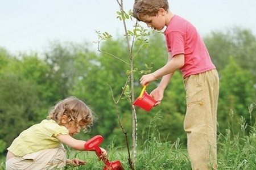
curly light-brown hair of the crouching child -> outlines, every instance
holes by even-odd
[[[49,111],[47,119],[54,120],[57,124],[63,125],[61,123],[63,115],[68,117],[67,123],[74,121],[76,126],[80,126],[84,132],[90,130],[95,119],[92,110],[83,101],[73,96],[59,101]]]

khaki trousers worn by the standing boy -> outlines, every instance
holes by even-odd
[[[217,104],[219,79],[216,69],[184,79],[187,112],[184,130],[192,169],[217,169]]]

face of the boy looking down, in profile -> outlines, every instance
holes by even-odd
[[[156,16],[149,16],[149,15],[142,15],[139,17],[139,19],[147,24],[147,27],[150,27],[152,29],[156,29],[158,31],[161,31],[164,26],[166,25],[166,15],[165,12],[160,11],[158,12],[158,15]]]

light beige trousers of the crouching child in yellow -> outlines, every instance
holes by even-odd
[[[5,164],[6,170],[62,169],[65,167],[65,152],[62,148],[52,148],[11,158]]]

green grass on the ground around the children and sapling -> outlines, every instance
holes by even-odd
[[[255,114],[256,103],[249,108],[250,119]],[[254,111],[254,112],[253,112]],[[191,165],[187,156],[187,150],[184,145],[177,139],[174,143],[161,142],[158,130],[155,128],[157,115],[152,118],[148,137],[144,142],[141,150],[138,149],[135,167],[138,170],[187,170]],[[225,134],[218,134],[218,169],[219,170],[251,170],[256,169],[256,121],[250,120],[249,124],[245,118],[241,117],[240,122],[232,122],[226,129]],[[236,124],[236,125],[234,125]],[[233,126],[239,125],[240,131],[233,131]],[[94,152],[74,152],[67,151],[69,158],[80,158],[88,162],[80,167],[67,166],[65,169],[90,169],[98,170],[104,168],[104,163],[98,161]],[[108,148],[109,160],[120,160],[124,169],[130,169],[127,160],[127,152],[118,148]],[[4,169],[5,164],[1,164]],[[1,168],[0,168],[1,169]]]

